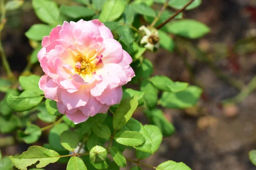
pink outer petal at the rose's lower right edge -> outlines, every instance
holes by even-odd
[[[96,97],[99,102],[106,105],[115,105],[121,101],[122,87],[105,89],[101,96]]]

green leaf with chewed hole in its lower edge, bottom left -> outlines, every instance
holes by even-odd
[[[37,168],[45,167],[50,163],[54,163],[60,159],[60,155],[54,150],[49,150],[41,146],[31,146],[26,152],[19,156],[9,156],[15,167],[20,170],[27,170],[28,166],[39,163]]]

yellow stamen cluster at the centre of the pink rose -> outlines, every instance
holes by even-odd
[[[78,74],[96,74],[96,67],[102,63],[102,55],[87,59],[86,57],[76,56],[75,71]]]

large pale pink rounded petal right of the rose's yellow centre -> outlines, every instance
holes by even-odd
[[[102,53],[103,63],[119,63],[122,59],[122,45],[115,39],[109,38],[103,41],[105,51]]]

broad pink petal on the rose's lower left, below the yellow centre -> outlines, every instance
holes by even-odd
[[[87,104],[90,94],[85,93],[85,89],[81,88],[79,91],[74,93],[69,93],[67,91],[62,91],[61,101],[67,106],[68,110],[73,108],[79,108]]]

